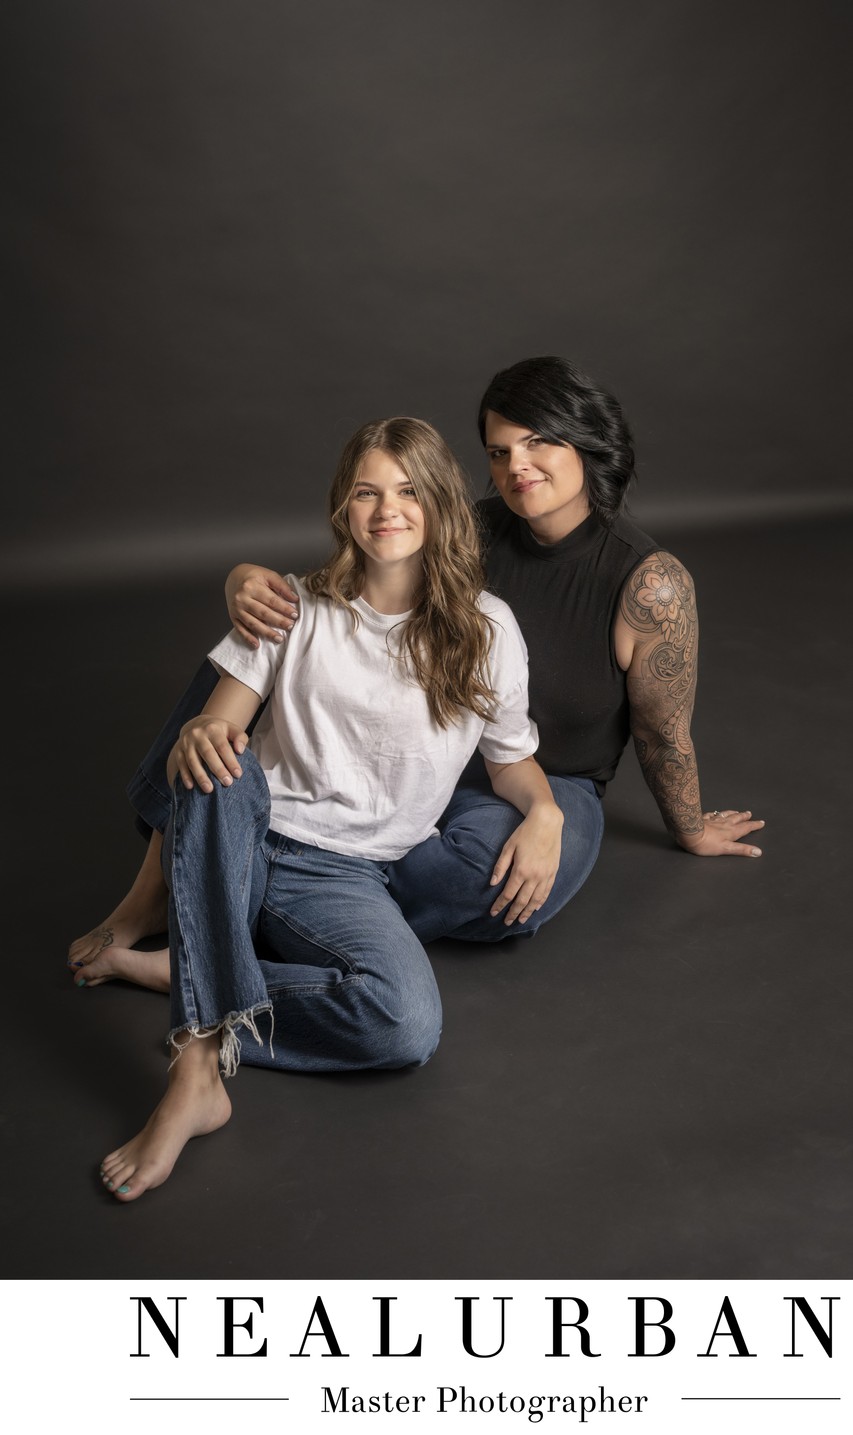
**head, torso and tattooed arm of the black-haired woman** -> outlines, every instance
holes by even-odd
[[[622,514],[633,448],[619,403],[564,359],[527,359],[495,375],[478,423],[500,495],[480,505],[487,575],[528,644],[543,768],[602,792],[632,736],[682,848],[758,857],[742,839],[763,822],[701,808],[694,584]]]

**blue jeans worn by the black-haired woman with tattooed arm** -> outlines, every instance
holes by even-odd
[[[157,742],[136,769],[128,796],[145,831],[164,831],[171,794],[167,758],[180,728],[201,712],[217,683],[205,660],[171,713]],[[602,802],[589,778],[549,778],[563,812],[560,870],[549,900],[523,927],[490,917],[497,888],[490,887],[501,848],[521,821],[511,804],[497,798],[475,756],[439,819],[439,834],[426,838],[386,870],[388,888],[421,941],[457,937],[462,941],[501,941],[531,937],[574,895],[589,877],[605,828]]]

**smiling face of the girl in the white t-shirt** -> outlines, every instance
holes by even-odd
[[[369,564],[419,567],[426,525],[412,481],[382,449],[365,456],[346,508],[349,531]]]

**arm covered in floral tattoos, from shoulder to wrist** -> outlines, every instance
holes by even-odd
[[[668,552],[645,558],[622,590],[620,614],[635,636],[628,700],[636,755],[678,841],[704,825],[691,739],[698,623],[689,573]]]

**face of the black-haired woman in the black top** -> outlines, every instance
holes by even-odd
[[[589,517],[583,464],[570,443],[547,443],[490,409],[485,452],[498,494],[540,542],[559,542]]]

